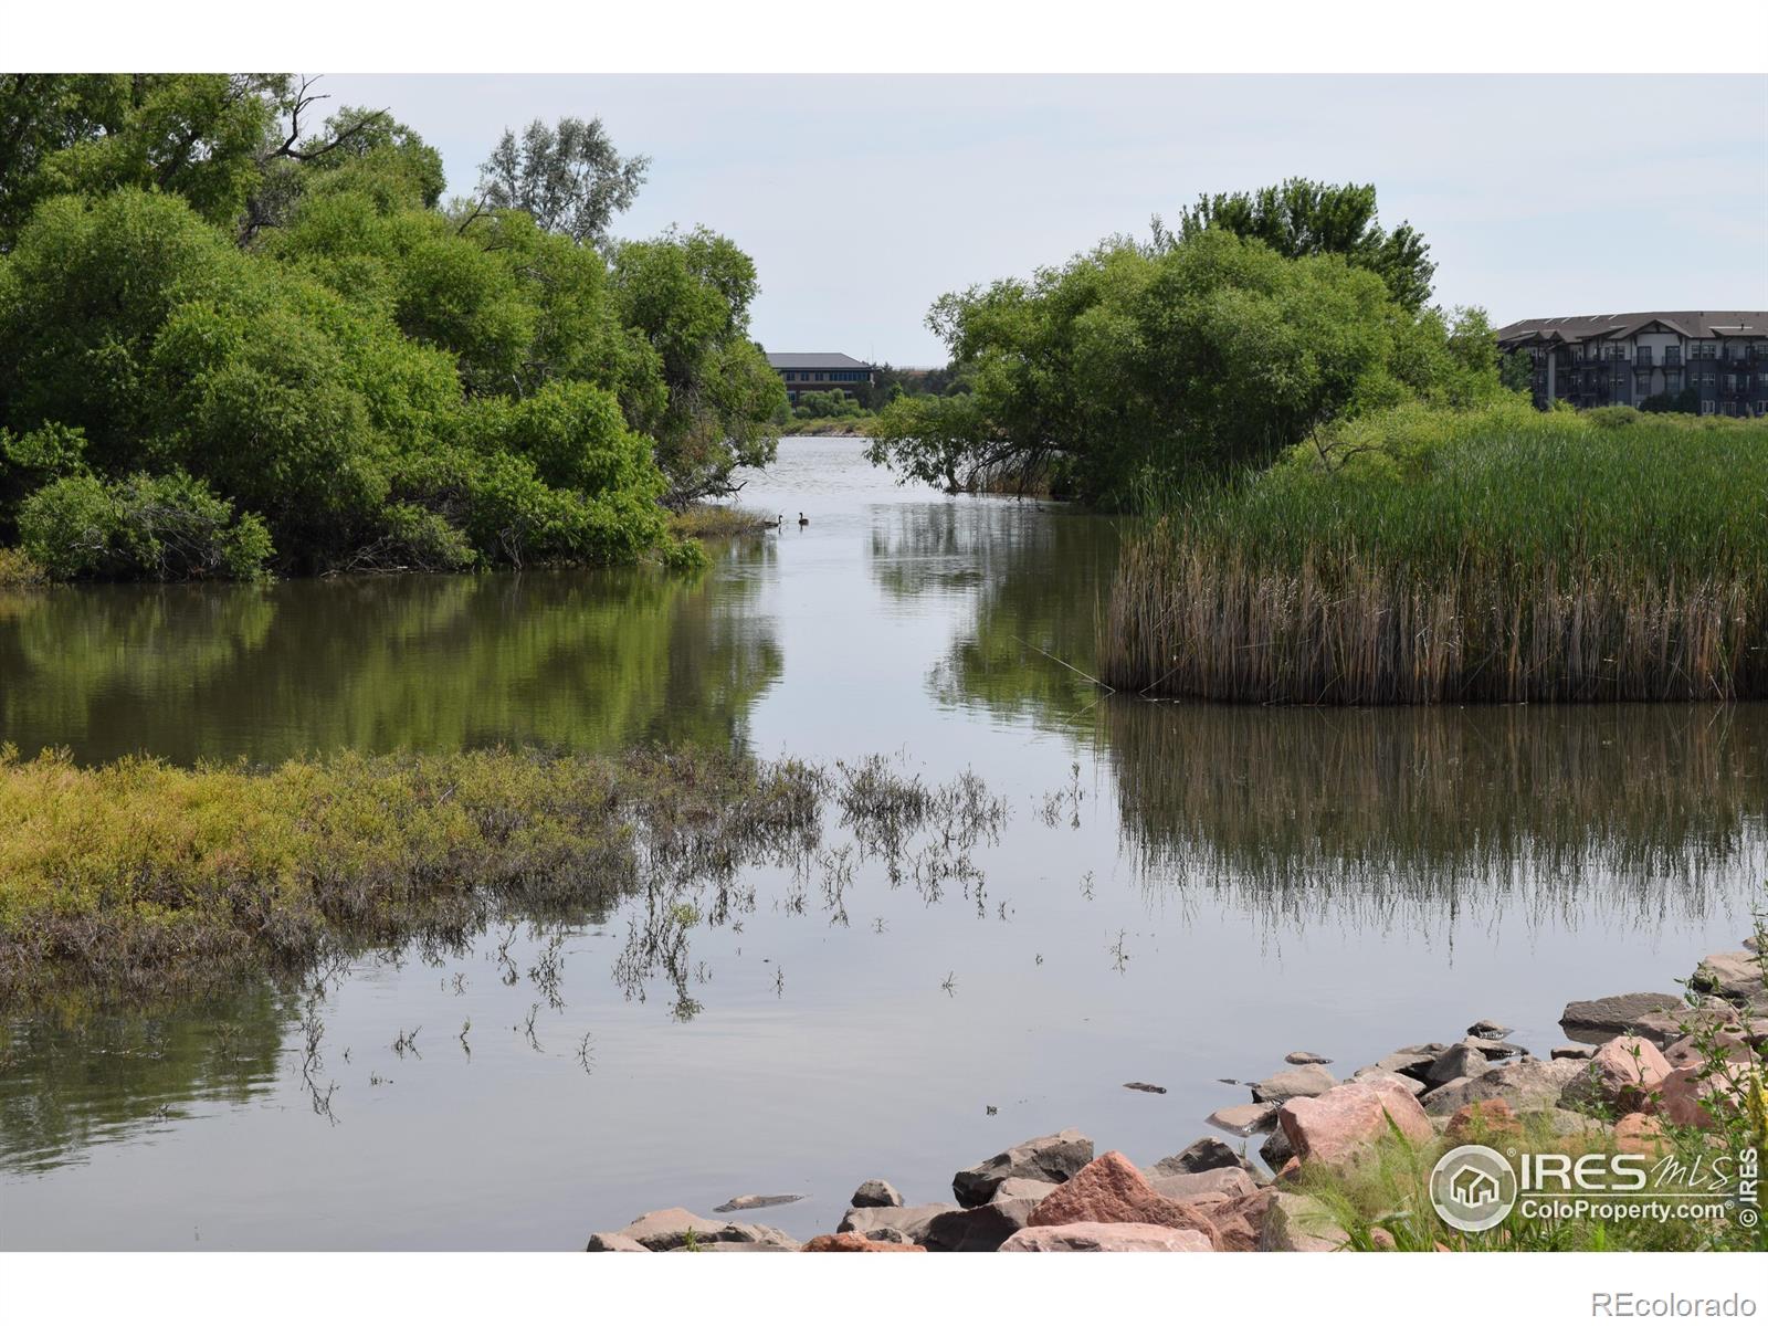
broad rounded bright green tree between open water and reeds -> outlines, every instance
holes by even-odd
[[[1107,242],[946,295],[928,324],[971,391],[889,405],[873,460],[946,488],[1041,481],[1112,507],[1268,463],[1331,419],[1497,389],[1478,309],[1414,315],[1340,255],[1287,258],[1223,226]]]

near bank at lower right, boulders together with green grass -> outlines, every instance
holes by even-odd
[[[732,1197],[716,1208],[723,1220],[684,1208],[647,1211],[622,1229],[592,1234],[585,1252],[1768,1250],[1757,1223],[1759,1186],[1749,1172],[1749,1158],[1759,1160],[1768,1144],[1768,926],[1761,912],[1743,944],[1703,958],[1687,995],[1635,992],[1566,1004],[1559,1018],[1566,1041],[1547,1057],[1508,1041],[1510,1029],[1489,1018],[1469,1024],[1460,1041],[1400,1047],[1342,1080],[1328,1071],[1330,1057],[1292,1050],[1271,1077],[1238,1084],[1250,1089],[1250,1103],[1206,1119],[1241,1139],[1238,1151],[1206,1133],[1144,1170],[1123,1153],[1098,1153],[1089,1135],[1066,1128],[956,1170],[955,1200],[909,1204],[888,1179],[866,1179],[840,1225],[803,1243],[746,1215],[803,1200],[780,1193]],[[1165,1093],[1146,1082],[1123,1086]],[[1254,1137],[1264,1139],[1257,1160],[1248,1155]],[[1704,1188],[1690,1181],[1687,1193],[1711,1211],[1687,1227],[1662,1216],[1667,1241],[1655,1241],[1648,1220],[1581,1223],[1566,1215],[1570,1199],[1515,1186],[1497,1220],[1469,1225],[1455,1190],[1444,1186],[1466,1170],[1452,1174],[1444,1160],[1464,1149],[1496,1156],[1496,1147],[1540,1162],[1565,1156],[1581,1181],[1586,1172],[1642,1174],[1650,1165],[1653,1176],[1669,1176],[1660,1186],[1688,1174],[1690,1155],[1704,1155],[1717,1177]],[[1741,1169],[1715,1156],[1734,1156]],[[1372,1176],[1386,1179],[1395,1167],[1418,1183],[1411,1197],[1429,1199],[1411,1206],[1434,1206],[1436,1218],[1420,1209],[1363,1209],[1379,1192]],[[1439,1170],[1448,1177],[1439,1179]],[[1614,1193],[1637,1188],[1628,1185]],[[1593,1190],[1605,1192],[1600,1183]],[[1653,1200],[1667,1213],[1662,1197]],[[1490,1200],[1497,1200],[1496,1188]],[[1545,1223],[1536,1227],[1536,1208],[1558,1215],[1542,1215]]]

